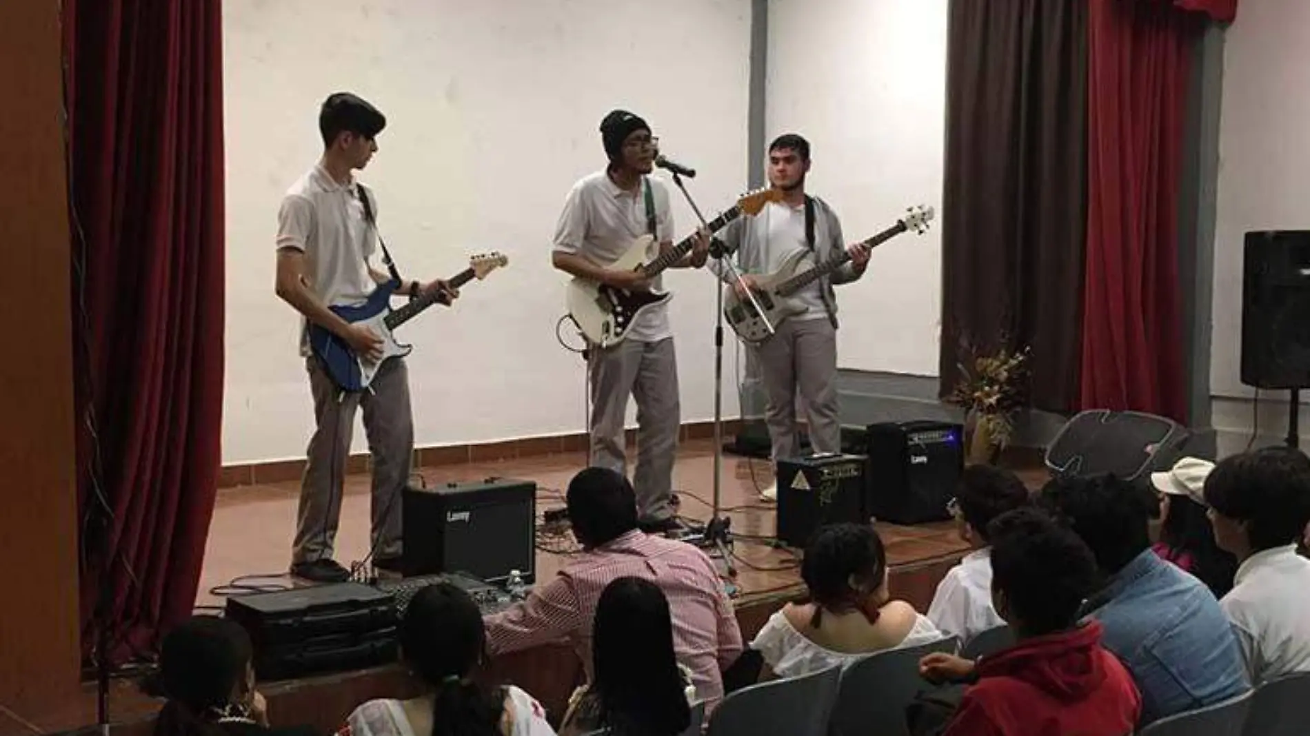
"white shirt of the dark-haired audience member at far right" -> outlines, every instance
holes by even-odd
[[[1233,622],[1254,685],[1310,672],[1310,559],[1296,545],[1247,558],[1220,606]]]

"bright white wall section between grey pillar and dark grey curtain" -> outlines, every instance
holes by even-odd
[[[807,183],[837,210],[848,242],[905,208],[941,216],[947,0],[772,0],[766,131],[812,147]],[[879,246],[841,287],[842,368],[935,376],[941,221]]]

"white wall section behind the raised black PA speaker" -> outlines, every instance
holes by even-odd
[[[1213,424],[1220,448],[1246,445],[1252,389],[1239,380],[1242,244],[1247,230],[1310,229],[1310,3],[1243,3],[1225,37],[1214,237]],[[1258,443],[1286,433],[1286,393],[1260,406]],[[1310,397],[1307,397],[1310,398]],[[1310,436],[1310,410],[1302,411]]]

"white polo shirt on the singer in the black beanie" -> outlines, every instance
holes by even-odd
[[[673,211],[668,189],[655,177],[650,182],[655,202],[655,242],[647,258],[659,255],[660,241],[673,240]],[[565,199],[565,210],[555,225],[554,250],[582,255],[597,266],[618,261],[633,242],[646,234],[646,193],[643,187],[625,191],[605,172],[588,174],[574,185]],[[652,289],[663,287],[663,275],[651,282]],[[627,330],[627,339],[659,342],[673,337],[668,322],[668,303],[647,308]]]

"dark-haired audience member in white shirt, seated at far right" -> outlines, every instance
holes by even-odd
[[[1220,605],[1255,685],[1310,672],[1310,561],[1297,537],[1310,517],[1310,458],[1269,448],[1225,458],[1205,482],[1220,546],[1242,561]]]

